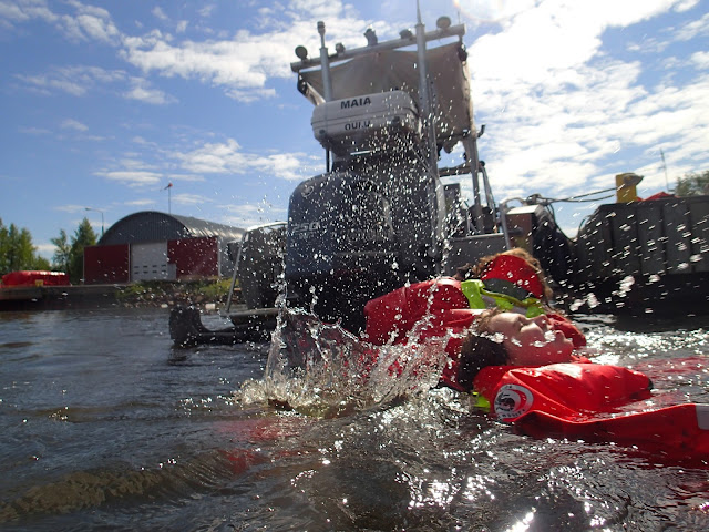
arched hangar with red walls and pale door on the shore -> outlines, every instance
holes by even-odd
[[[228,277],[244,233],[191,216],[131,214],[84,248],[84,283]]]

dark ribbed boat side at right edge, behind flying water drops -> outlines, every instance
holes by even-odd
[[[572,310],[686,316],[709,310],[709,196],[600,205],[572,241]]]

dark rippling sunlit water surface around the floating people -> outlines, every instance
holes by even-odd
[[[709,530],[701,464],[515,434],[422,371],[358,381],[337,328],[296,352],[331,371],[264,381],[268,345],[175,349],[167,317],[0,314],[0,529]],[[709,319],[580,321],[602,361],[709,402]]]

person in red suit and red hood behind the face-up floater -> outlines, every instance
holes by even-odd
[[[540,279],[537,269],[524,258],[514,255],[499,255],[490,262],[481,277],[483,280],[501,278],[514,287],[524,288],[530,294],[528,299],[535,299],[537,303],[546,297],[546,284]],[[467,329],[481,316],[485,305],[480,304],[480,298],[471,301],[461,286],[463,283],[465,282],[456,278],[441,277],[404,286],[370,300],[364,306],[364,339],[374,345],[405,344],[410,341],[410,337],[413,341],[424,341],[427,338],[448,335],[450,339],[445,350],[451,364],[444,369],[441,383],[458,391],[470,391],[472,382],[459,378],[459,375],[464,375],[460,371],[461,347]],[[495,304],[493,297],[486,301]],[[505,299],[504,303],[510,303],[510,299]],[[513,310],[514,314],[528,314],[528,308],[525,311],[513,307]],[[544,316],[544,323],[552,329],[564,332],[575,348],[586,345],[586,338],[572,321],[554,313],[546,305],[544,310],[547,313],[538,314],[531,319],[541,320],[540,316]]]

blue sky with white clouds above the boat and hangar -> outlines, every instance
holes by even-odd
[[[420,7],[429,31],[440,16],[466,27],[499,202],[603,191],[623,172],[647,197],[709,170],[709,0]],[[296,185],[325,170],[295,48],[318,54],[320,20],[333,52],[415,19],[415,0],[0,0],[0,218],[50,259],[84,217],[99,235],[140,211],[287,219]],[[596,206],[554,208],[573,236]]]

